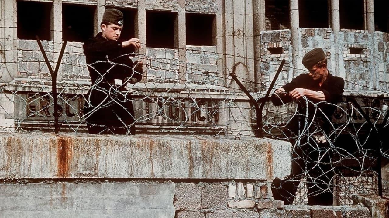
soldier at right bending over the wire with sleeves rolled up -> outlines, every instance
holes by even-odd
[[[330,131],[331,116],[335,111],[332,104],[340,101],[344,80],[329,73],[326,55],[321,48],[310,50],[304,55],[302,63],[309,73],[298,75],[272,95],[272,102],[276,106],[295,100],[298,107],[298,113],[283,131],[286,140],[293,145],[292,174],[289,180],[273,181],[272,189],[275,199],[292,204],[299,181],[307,172],[308,205],[332,205],[333,195],[329,184],[333,169],[331,164],[323,164],[328,163],[331,157],[329,152],[323,155],[317,151],[320,151],[320,147],[328,146],[324,135]],[[316,134],[308,137],[305,126],[308,126],[310,133]],[[303,137],[300,137],[301,134]],[[314,175],[315,172],[319,174]]]

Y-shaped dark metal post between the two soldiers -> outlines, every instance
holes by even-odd
[[[247,95],[247,97],[249,97],[251,104],[253,104],[254,107],[255,107],[256,114],[257,114],[257,128],[256,128],[256,131],[255,131],[255,136],[257,138],[262,137],[262,124],[263,124],[263,122],[262,122],[262,111],[263,111],[263,107],[265,106],[265,100],[269,97],[270,92],[272,91],[272,89],[274,87],[274,84],[275,84],[275,81],[277,81],[277,78],[278,78],[278,76],[279,76],[279,74],[280,74],[284,64],[285,64],[285,59],[283,59],[281,61],[281,64],[278,67],[277,73],[275,73],[275,76],[273,78],[272,84],[270,84],[270,87],[269,87],[268,91],[266,92],[265,97],[261,98],[262,99],[261,106],[258,105],[258,102],[252,97],[250,92],[247,91],[247,89],[244,87],[244,85],[238,80],[237,74],[230,73],[230,75],[233,78],[233,80],[238,84],[239,88]]]

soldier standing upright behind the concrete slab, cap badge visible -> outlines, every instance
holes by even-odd
[[[135,117],[127,83],[142,79],[143,63],[130,59],[140,40],[120,42],[123,13],[107,9],[101,32],[88,39],[84,54],[92,85],[86,96],[84,117],[91,134],[135,134]]]

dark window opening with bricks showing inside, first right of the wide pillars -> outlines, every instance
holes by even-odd
[[[289,29],[289,1],[265,1],[266,29]]]

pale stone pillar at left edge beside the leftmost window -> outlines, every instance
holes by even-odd
[[[0,83],[18,74],[16,1],[0,1]]]

